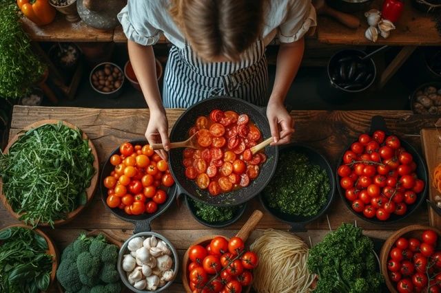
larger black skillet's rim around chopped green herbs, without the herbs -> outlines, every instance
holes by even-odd
[[[314,216],[301,216],[301,215],[289,215],[282,213],[280,210],[276,208],[270,208],[269,204],[267,202],[267,199],[265,197],[265,189],[260,194],[260,202],[262,203],[263,207],[269,211],[271,215],[279,219],[280,221],[284,221],[285,223],[289,224],[291,226],[290,231],[292,232],[303,232],[307,229],[305,228],[305,225],[310,223],[311,221],[314,221],[315,219],[318,219],[322,215],[326,213],[329,206],[331,206],[332,199],[334,199],[334,192],[336,190],[336,184],[334,179],[334,172],[332,171],[331,165],[326,160],[326,158],[312,149],[309,146],[305,146],[302,144],[287,144],[286,146],[280,146],[280,152],[284,151],[296,151],[297,153],[304,153],[307,155],[309,162],[313,165],[320,166],[321,169],[325,170],[328,177],[329,177],[329,186],[331,187],[331,190],[327,194],[327,202],[322,207],[322,209],[318,212],[317,215]]]

